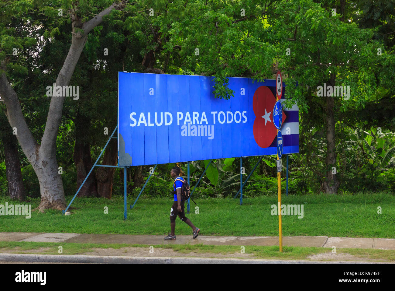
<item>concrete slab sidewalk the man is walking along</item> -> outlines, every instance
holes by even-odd
[[[37,232],[0,232],[0,241],[6,242],[65,242],[65,243],[129,243],[145,245],[198,244],[204,245],[278,245],[278,236],[164,236],[129,234],[69,234]],[[283,236],[282,244],[298,247],[333,247],[361,249],[394,249],[393,238],[338,238],[327,236]]]

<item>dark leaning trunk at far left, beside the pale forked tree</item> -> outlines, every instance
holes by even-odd
[[[13,200],[24,200],[25,189],[21,173],[21,163],[17,140],[15,136],[3,137],[4,155],[6,156],[6,175],[8,181],[8,195]]]

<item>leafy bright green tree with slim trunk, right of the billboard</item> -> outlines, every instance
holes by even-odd
[[[334,11],[332,8],[336,6],[331,1],[322,4],[324,7],[312,1],[303,5],[281,1],[269,21],[280,44],[279,67],[289,76],[286,93],[297,101],[302,111],[307,112],[312,106],[319,110],[318,114],[312,112],[313,116],[324,117],[312,123],[316,127],[325,124],[326,179],[323,188],[328,193],[336,193],[339,187],[337,121],[348,118],[344,114],[346,110],[359,110],[372,99],[377,90],[374,76],[379,67],[376,64],[385,59],[377,55],[379,43],[372,40],[374,31],[360,29],[352,21],[353,5],[345,1],[340,4],[340,9]],[[287,55],[287,51],[290,54]],[[299,83],[297,87],[294,86],[296,82]],[[318,86],[324,84],[332,88],[350,86],[351,95],[320,94]]]

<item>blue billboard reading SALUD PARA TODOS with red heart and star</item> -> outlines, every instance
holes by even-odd
[[[275,80],[228,79],[226,100],[214,98],[214,77],[119,72],[118,165],[275,155]],[[296,105],[282,107],[280,130],[283,154],[299,152]]]

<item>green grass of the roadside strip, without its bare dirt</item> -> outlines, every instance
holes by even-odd
[[[90,253],[94,248],[100,249],[120,249],[126,247],[140,247],[149,250],[150,245],[141,244],[126,244],[126,243],[112,243],[112,244],[98,244],[98,243],[43,243],[43,242],[0,242],[0,252],[5,251],[11,253],[36,253],[45,255],[57,255],[58,247],[62,246],[63,255],[77,255],[81,253]],[[222,255],[237,255],[239,258],[253,259],[293,259],[302,260],[308,259],[310,255],[320,253],[331,253],[331,248],[323,247],[283,247],[283,252],[278,251],[278,246],[245,246],[245,256],[240,252],[240,246],[236,245],[153,245],[155,249],[172,249],[173,251],[181,254],[209,254],[210,257],[216,257],[216,254]],[[45,250],[41,248],[46,248]],[[40,251],[34,251],[41,249]],[[105,251],[103,251],[105,253]],[[378,259],[395,261],[395,251],[393,250],[380,250],[380,249],[337,249],[337,253],[348,253],[358,258],[363,259]],[[333,259],[339,260],[339,257]]]

